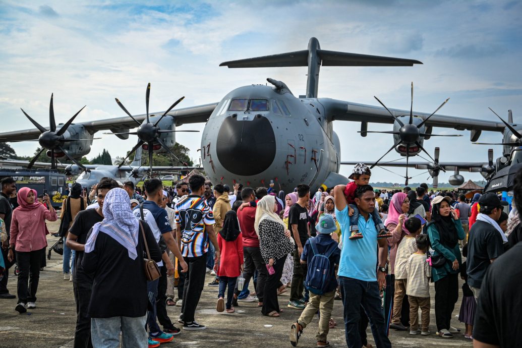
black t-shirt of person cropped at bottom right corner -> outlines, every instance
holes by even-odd
[[[474,226],[474,225],[473,225]],[[485,274],[475,312],[473,338],[501,347],[519,347],[522,342],[522,243],[495,260]]]

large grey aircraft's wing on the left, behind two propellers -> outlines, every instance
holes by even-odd
[[[204,123],[207,122],[207,119],[210,117],[210,114],[218,103],[211,103],[205,105],[191,106],[185,107],[183,109],[175,109],[171,110],[167,115],[173,116],[176,122],[176,126],[181,126],[183,124],[188,123]],[[123,113],[123,112],[122,112]],[[149,116],[152,115],[162,115],[164,111],[159,111],[156,113],[149,113]],[[23,115],[21,116],[23,117]],[[136,115],[134,116],[136,121],[143,122],[146,118],[146,114]],[[92,134],[98,130],[104,129],[131,129],[136,127],[136,123],[129,116],[116,117],[116,118],[108,118],[108,119],[100,119],[96,121],[87,121],[87,122],[79,122],[76,124],[81,124],[85,126]],[[59,125],[58,125],[59,126]],[[49,129],[46,127],[45,129]],[[25,129],[25,130],[15,130],[15,131],[7,131],[4,133],[0,133],[0,141],[9,142],[9,141],[23,141],[23,140],[33,140],[38,139],[40,136],[40,130],[36,128]]]

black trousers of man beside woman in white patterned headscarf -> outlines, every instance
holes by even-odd
[[[92,348],[91,318],[87,314],[91,301],[92,284],[73,282],[73,292],[76,301],[74,348]]]

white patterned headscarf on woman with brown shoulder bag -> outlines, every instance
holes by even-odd
[[[122,188],[113,188],[103,201],[103,221],[92,226],[92,233],[85,243],[85,252],[90,253],[96,245],[99,232],[108,234],[128,251],[131,259],[138,257],[139,223],[131,210],[129,195]]]

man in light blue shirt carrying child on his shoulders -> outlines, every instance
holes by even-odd
[[[339,262],[339,285],[341,286],[342,304],[345,307],[345,335],[348,347],[362,346],[359,334],[361,319],[360,307],[364,308],[377,347],[391,347],[386,335],[386,322],[381,306],[379,290],[386,286],[385,263],[388,257],[388,245],[385,238],[377,239],[377,230],[372,220],[375,209],[373,187],[362,185],[355,190],[355,204],[359,209],[359,231],[364,238],[350,240],[350,217],[343,194],[346,186],[334,188],[335,215],[342,233],[342,250]],[[378,262],[377,262],[378,255]]]

